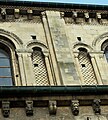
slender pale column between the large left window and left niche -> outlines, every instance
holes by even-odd
[[[21,83],[22,86],[27,85],[26,81],[26,74],[25,74],[25,68],[24,68],[24,62],[23,62],[23,55],[22,53],[17,53],[18,55],[18,61],[19,61],[19,71],[20,71],[20,76],[21,76]]]

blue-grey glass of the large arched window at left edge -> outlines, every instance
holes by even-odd
[[[12,86],[10,54],[0,48],[0,86]]]

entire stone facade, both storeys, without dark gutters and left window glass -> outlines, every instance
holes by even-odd
[[[82,90],[108,84],[106,7],[45,7],[44,3],[32,7],[19,3],[0,3],[0,49],[9,55],[11,88],[80,86]],[[0,74],[0,80],[3,77],[7,76]],[[95,92],[34,97],[0,95],[0,118],[108,120],[107,93]]]

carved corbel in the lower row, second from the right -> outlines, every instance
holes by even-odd
[[[79,101],[78,100],[71,101],[71,110],[72,110],[73,115],[77,116],[79,114]]]

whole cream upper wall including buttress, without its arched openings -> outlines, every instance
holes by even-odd
[[[78,48],[86,48],[89,52],[98,84],[108,84],[108,64],[101,51],[102,43],[107,40],[108,26],[66,24],[59,11],[41,14],[38,22],[37,18],[33,18],[31,22],[23,21],[25,17],[15,22],[0,22],[0,29],[14,33],[23,42],[22,46],[16,48],[22,74],[22,83],[17,81],[17,85],[34,85],[30,58],[32,50],[27,46],[30,42],[42,43],[47,47],[47,52],[43,52],[47,56],[45,62],[48,63],[46,66],[51,85],[83,84]],[[36,36],[36,39],[33,40],[32,36]]]

